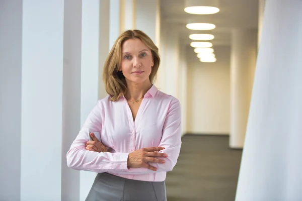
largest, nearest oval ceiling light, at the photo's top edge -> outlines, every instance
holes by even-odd
[[[185,12],[195,15],[209,15],[219,12],[218,0],[186,0]]]

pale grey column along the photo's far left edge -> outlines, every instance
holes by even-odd
[[[22,0],[0,1],[0,30],[0,200],[20,200]]]

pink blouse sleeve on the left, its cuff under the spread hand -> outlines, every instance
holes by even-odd
[[[77,170],[106,172],[112,170],[128,170],[129,153],[93,152],[86,150],[90,132],[102,131],[102,110],[100,100],[89,114],[77,138],[67,152],[67,166]],[[100,139],[99,139],[100,140]]]

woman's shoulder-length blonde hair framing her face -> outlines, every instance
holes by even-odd
[[[159,48],[154,42],[140,30],[127,30],[123,32],[115,41],[103,68],[103,80],[106,92],[111,96],[110,100],[116,101],[125,94],[127,84],[122,72],[119,72],[122,57],[122,45],[128,39],[140,39],[152,52],[154,66],[149,75],[149,80],[153,84],[160,66]]]

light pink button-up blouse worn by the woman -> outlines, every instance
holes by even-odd
[[[109,152],[86,150],[89,133],[109,149]],[[168,155],[163,164],[150,162],[157,171],[147,168],[127,168],[127,158],[134,150],[165,147]],[[179,100],[153,85],[142,99],[135,121],[127,100],[116,102],[109,96],[98,101],[89,114],[77,138],[67,152],[67,166],[77,170],[108,172],[135,180],[164,181],[166,172],[177,162],[181,147],[181,109]]]

